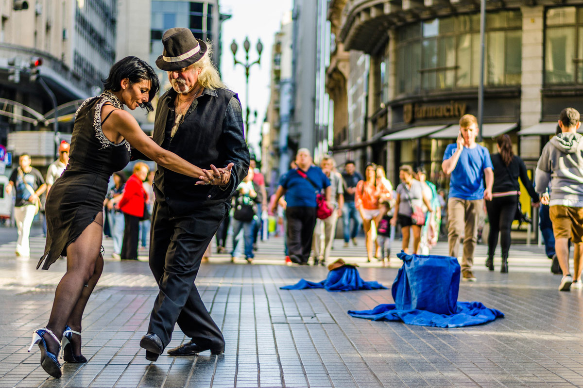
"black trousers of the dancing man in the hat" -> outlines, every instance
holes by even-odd
[[[170,343],[175,323],[194,343],[224,349],[223,334],[210,318],[194,281],[210,240],[230,205],[223,203],[172,214],[155,202],[150,230],[150,269],[160,292],[150,315],[148,333],[156,333],[164,347]]]

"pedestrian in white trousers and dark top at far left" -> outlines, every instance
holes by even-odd
[[[40,209],[40,195],[44,193],[47,185],[40,171],[31,166],[30,155],[23,154],[18,158],[19,167],[12,170],[6,194],[15,189],[16,202],[14,205],[14,219],[18,230],[15,254],[22,259],[30,258],[30,227],[33,225],[34,216]]]

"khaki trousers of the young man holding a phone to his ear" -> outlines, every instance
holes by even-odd
[[[477,221],[483,201],[460,198],[449,198],[447,201],[449,256],[458,257],[459,239],[463,234],[462,272],[471,269],[473,265]]]

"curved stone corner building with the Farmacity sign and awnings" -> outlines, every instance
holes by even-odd
[[[337,40],[346,51],[370,56],[367,140],[361,144],[367,159],[392,170],[391,180],[398,176],[395,166],[424,165],[432,181],[447,186],[445,147],[455,141],[459,117],[477,115],[479,4],[342,3],[331,1],[342,8]],[[583,108],[582,7],[580,1],[487,4],[482,136],[490,152],[497,152],[494,138],[508,133],[533,169],[561,109]],[[341,145],[335,141],[334,148]]]

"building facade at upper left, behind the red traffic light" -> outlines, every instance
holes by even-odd
[[[117,0],[0,0],[0,16],[0,144],[44,166],[52,142],[23,132],[52,131],[58,105],[55,143],[70,138],[76,101],[96,94],[114,63]]]

